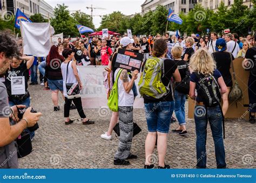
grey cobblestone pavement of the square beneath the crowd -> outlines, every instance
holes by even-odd
[[[63,100],[61,110],[53,112],[51,92],[42,86],[29,88],[31,106],[44,115],[38,122],[40,128],[32,142],[33,152],[19,159],[20,168],[143,168],[145,161],[145,138],[147,125],[143,109],[134,109],[134,121],[142,132],[133,138],[131,152],[138,159],[130,160],[129,166],[113,165],[113,156],[117,150],[118,139],[113,136],[107,141],[100,138],[109,126],[109,110],[85,109],[87,117],[95,121],[94,125],[75,122],[64,124]],[[71,110],[71,119],[79,118],[77,110]],[[178,123],[171,124],[171,129]],[[255,124],[232,119],[226,122],[226,162],[229,168],[256,168]],[[180,137],[169,133],[167,142],[166,164],[171,168],[194,168],[196,165],[196,132],[193,119],[187,119],[188,135]],[[114,134],[114,132],[113,132]],[[210,126],[207,129],[207,167],[215,168],[214,143]],[[154,151],[157,154],[157,150]],[[157,156],[152,160],[157,165]]]

